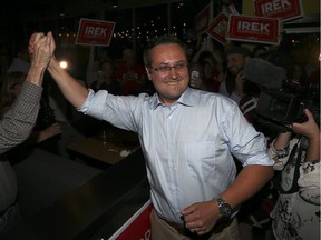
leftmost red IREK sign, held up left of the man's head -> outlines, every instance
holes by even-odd
[[[115,22],[80,19],[76,44],[109,46]]]

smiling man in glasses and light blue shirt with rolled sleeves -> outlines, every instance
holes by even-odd
[[[59,68],[55,57],[48,70],[79,111],[138,132],[154,206],[154,240],[237,239],[237,207],[271,179],[273,162],[263,134],[235,102],[188,87],[184,47],[174,36],[146,46],[144,62],[154,96],[95,93]],[[237,178],[233,154],[244,167]]]

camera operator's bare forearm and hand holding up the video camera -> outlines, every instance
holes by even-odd
[[[304,113],[308,117],[308,121],[293,123],[293,131],[305,136],[309,140],[305,161],[320,160],[320,129],[308,109],[304,110]]]

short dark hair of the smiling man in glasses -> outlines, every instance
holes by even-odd
[[[146,67],[150,67],[152,66],[152,57],[150,57],[150,51],[153,48],[155,48],[156,46],[160,46],[160,44],[178,44],[182,47],[182,49],[185,52],[186,59],[187,59],[187,51],[186,51],[186,46],[184,42],[182,42],[177,37],[175,36],[171,36],[171,34],[165,34],[165,36],[160,36],[160,37],[156,37],[150,39],[144,50],[144,63]]]

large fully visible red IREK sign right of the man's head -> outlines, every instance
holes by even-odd
[[[280,43],[280,20],[231,14],[226,39],[268,44]]]

